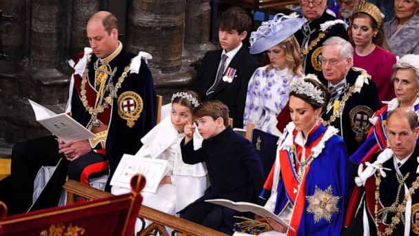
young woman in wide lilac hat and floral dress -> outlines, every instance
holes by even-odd
[[[243,124],[252,121],[256,128],[279,135],[276,116],[287,105],[289,83],[303,77],[296,32],[304,20],[296,14],[276,14],[262,23],[250,37],[250,53],[267,51],[269,65],[256,69],[247,87]]]

